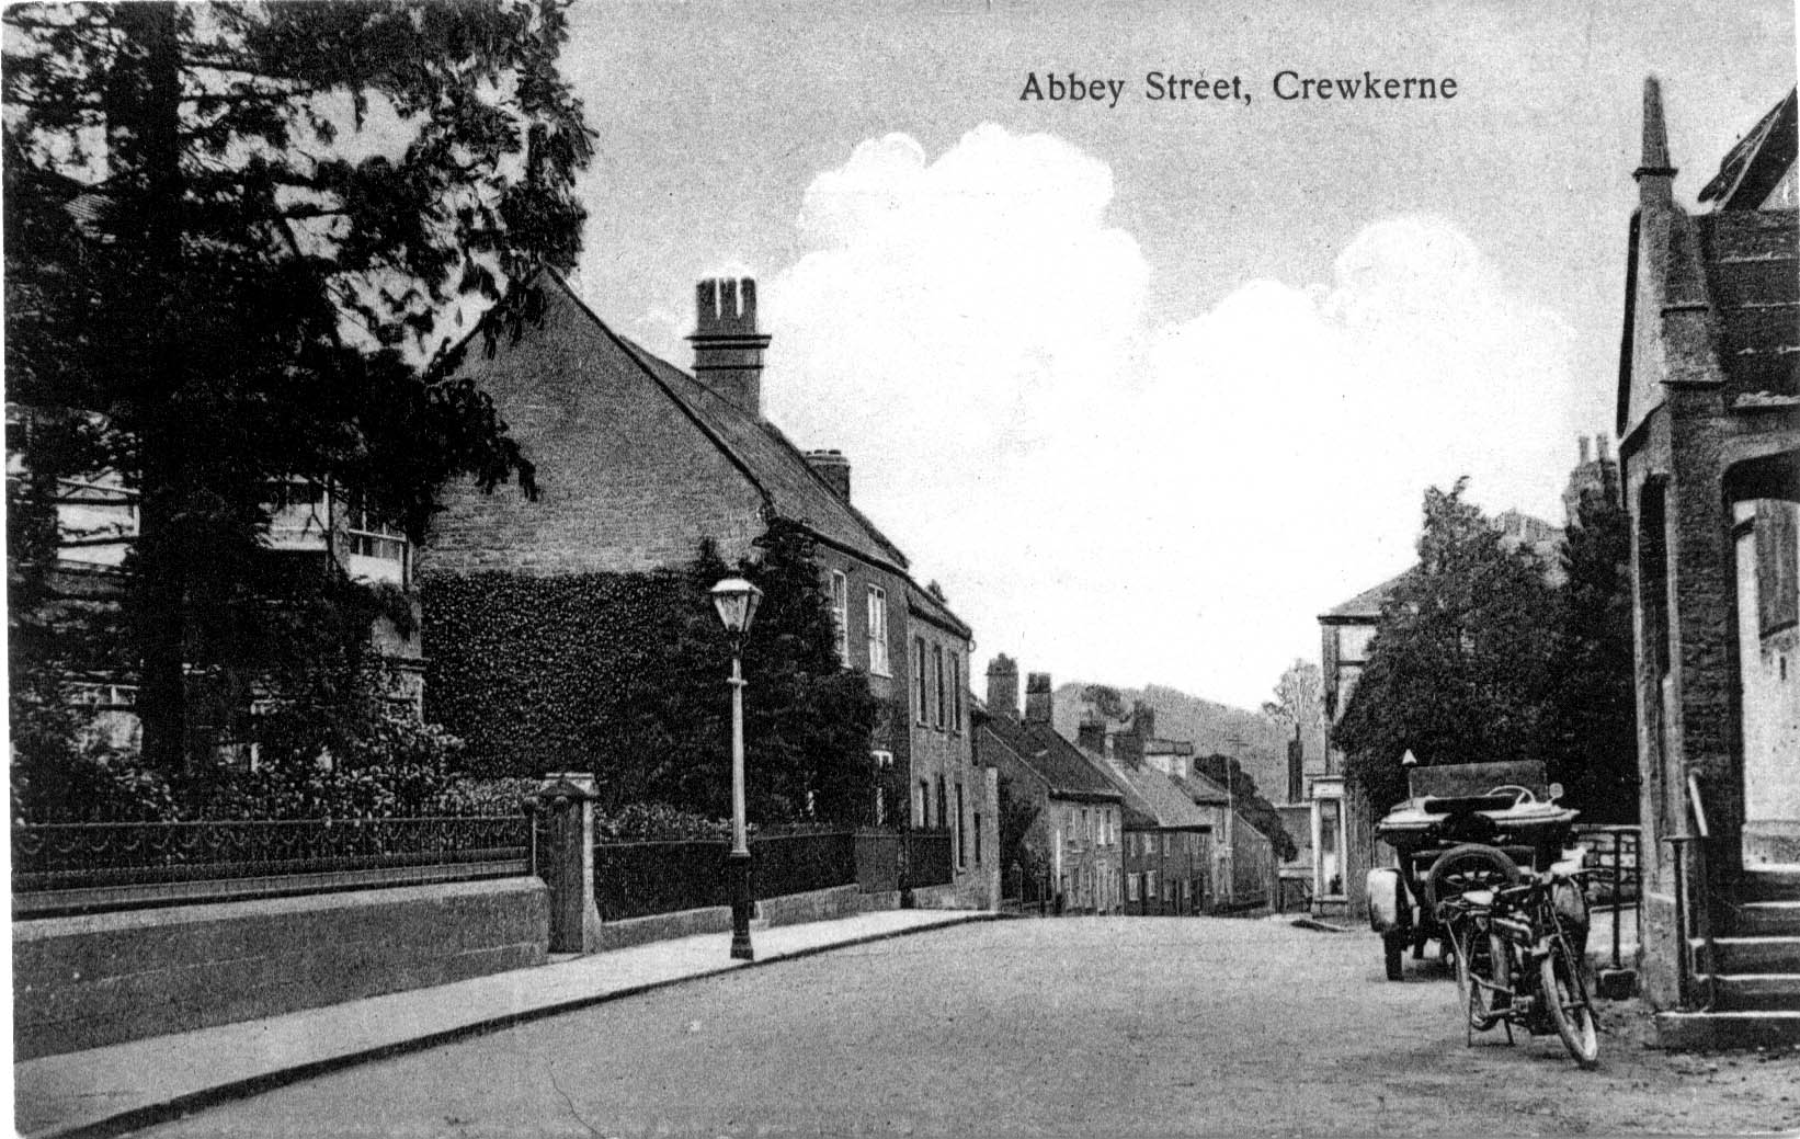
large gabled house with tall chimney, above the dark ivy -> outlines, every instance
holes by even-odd
[[[839,659],[868,675],[882,704],[869,741],[880,772],[871,810],[889,826],[972,826],[977,813],[986,826],[988,781],[963,759],[967,734],[963,747],[931,734],[936,664],[914,659],[923,641],[949,673],[965,669],[968,626],[913,583],[905,554],[855,507],[850,461],[801,452],[763,416],[770,338],[758,329],[756,283],[698,283],[691,372],[621,336],[558,274],[540,284],[540,320],[517,340],[499,336],[491,353],[470,351],[463,365],[536,464],[538,498],[511,486],[491,495],[472,482],[446,488],[419,574],[643,572],[686,565],[707,540],[736,561],[770,516],[796,522],[817,547]],[[920,702],[932,709],[927,732],[914,731]],[[954,819],[938,803],[940,776],[961,777]],[[920,779],[931,795],[913,794]],[[970,855],[972,839],[970,830]],[[974,869],[970,858],[958,885],[979,892]]]

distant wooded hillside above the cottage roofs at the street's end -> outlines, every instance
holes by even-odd
[[[1103,680],[1064,684],[1055,693],[1057,732],[1075,740],[1085,704],[1082,689]],[[1278,723],[1260,711],[1217,704],[1201,696],[1152,684],[1150,687],[1118,687],[1129,707],[1145,702],[1156,709],[1156,734],[1165,740],[1190,740],[1201,756],[1235,756],[1242,768],[1256,779],[1256,790],[1271,803],[1287,799],[1287,740],[1292,727]],[[1305,734],[1307,770],[1323,767],[1323,738],[1319,731]]]

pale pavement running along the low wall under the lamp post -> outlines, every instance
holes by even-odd
[[[13,1125],[29,1139],[115,1135],[355,1063],[698,977],[995,916],[988,910],[878,910],[761,928],[754,934],[754,963],[727,955],[731,934],[702,934],[284,1017],[43,1056],[13,1065]]]

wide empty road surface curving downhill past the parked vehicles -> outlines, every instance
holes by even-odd
[[[725,943],[720,941],[720,952]],[[155,1135],[1573,1135],[1800,1128],[1800,1053],[1463,1045],[1435,961],[1222,918],[994,921],[616,1000]]]

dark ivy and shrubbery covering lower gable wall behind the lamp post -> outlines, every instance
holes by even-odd
[[[427,579],[427,720],[466,741],[473,776],[594,772],[607,810],[722,817],[731,646],[707,590],[731,574],[763,590],[743,644],[751,817],[862,821],[877,702],[839,668],[812,540],[779,518],[736,567],[706,545],[644,574]]]

